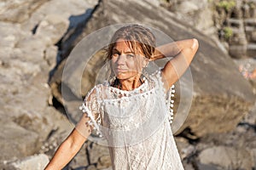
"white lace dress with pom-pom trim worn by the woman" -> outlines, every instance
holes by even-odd
[[[108,84],[90,90],[82,110],[108,141],[113,169],[183,169],[170,125],[172,91],[166,93],[160,71],[132,91]],[[83,133],[86,127],[77,128]]]

